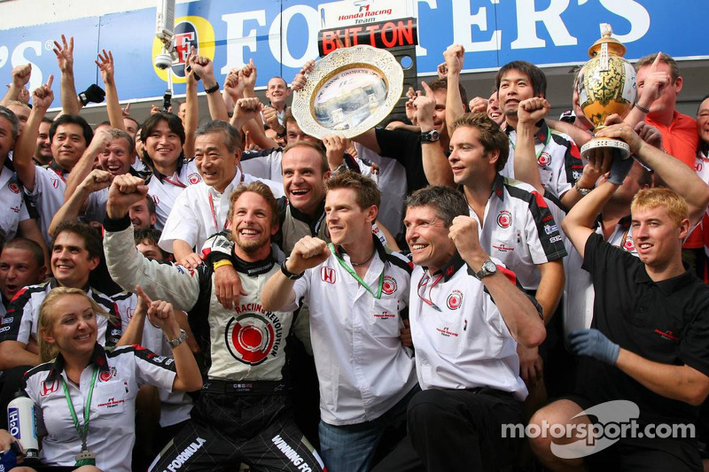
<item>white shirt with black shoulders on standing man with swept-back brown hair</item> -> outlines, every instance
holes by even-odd
[[[559,228],[544,198],[531,185],[495,176],[485,205],[483,223],[478,221],[480,245],[491,257],[503,261],[526,290],[541,281],[537,264],[561,259],[566,249]]]

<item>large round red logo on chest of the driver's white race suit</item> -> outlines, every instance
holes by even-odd
[[[272,313],[267,315],[273,316]],[[280,321],[267,319],[261,313],[244,313],[238,318],[232,318],[224,331],[224,341],[231,356],[248,364],[256,366],[261,364],[273,350],[276,352],[280,344]],[[276,325],[277,326],[274,326]]]

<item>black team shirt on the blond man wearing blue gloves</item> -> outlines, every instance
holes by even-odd
[[[596,290],[594,328],[644,359],[709,375],[709,286],[690,271],[653,282],[640,259],[597,234],[588,236],[583,263]],[[640,424],[694,422],[699,412],[699,406],[658,395],[619,368],[585,356],[577,383],[578,393],[595,405],[635,402]]]

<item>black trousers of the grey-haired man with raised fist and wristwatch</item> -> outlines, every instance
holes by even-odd
[[[510,393],[426,390],[409,402],[408,436],[375,472],[497,470],[510,465],[523,438],[503,438],[503,424],[522,423]]]

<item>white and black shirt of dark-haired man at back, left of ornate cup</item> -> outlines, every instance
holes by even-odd
[[[500,174],[514,179],[517,131],[508,126],[505,133],[510,138],[510,158]],[[583,174],[583,162],[576,143],[568,135],[549,128],[544,120],[534,133],[534,152],[537,154],[541,185],[554,197],[563,197]]]

